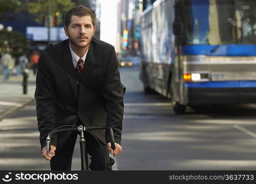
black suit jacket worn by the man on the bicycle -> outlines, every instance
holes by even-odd
[[[36,113],[40,132],[41,148],[46,145],[47,134],[62,125],[86,126],[109,125],[116,143],[121,142],[122,117],[124,112],[124,86],[120,81],[118,59],[114,47],[92,39],[87,52],[84,71],[78,74],[85,85],[66,72],[75,71],[69,40],[64,40],[41,52],[36,76]],[[60,56],[59,63],[54,59]],[[64,67],[63,67],[64,66]],[[77,72],[77,71],[75,71]],[[76,73],[77,74],[77,73]],[[105,131],[93,131],[103,143],[109,142]],[[60,133],[52,138],[52,145],[63,147],[70,133]]]

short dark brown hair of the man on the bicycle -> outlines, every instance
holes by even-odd
[[[92,10],[90,10],[89,8],[87,8],[85,6],[82,6],[82,5],[75,6],[75,7],[71,8],[70,10],[68,10],[68,12],[66,12],[66,15],[65,15],[65,26],[66,27],[68,27],[68,25],[70,25],[72,15],[75,15],[78,17],[90,15],[90,18],[92,18],[92,25],[95,26],[94,13],[92,12]]]

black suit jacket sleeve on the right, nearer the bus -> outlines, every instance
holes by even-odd
[[[111,50],[108,66],[103,76],[103,98],[106,108],[106,125],[113,129],[114,141],[121,142],[122,118],[124,113],[124,86],[120,80],[118,59],[114,47]],[[110,142],[106,135],[106,142]]]

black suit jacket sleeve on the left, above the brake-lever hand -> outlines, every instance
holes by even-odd
[[[40,132],[41,149],[46,146],[46,137],[55,125],[55,91],[54,80],[47,67],[44,52],[38,61],[38,73],[36,75],[36,115]],[[53,136],[51,145],[57,144],[57,136]]]

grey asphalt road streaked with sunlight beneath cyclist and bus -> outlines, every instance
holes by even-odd
[[[121,69],[127,87],[118,170],[255,170],[256,107],[218,105],[175,115],[168,99],[143,94],[138,68]],[[1,170],[49,170],[40,156],[34,103],[0,121]],[[80,169],[79,145],[73,169]]]

